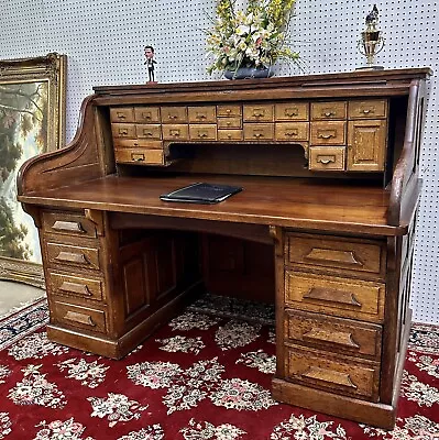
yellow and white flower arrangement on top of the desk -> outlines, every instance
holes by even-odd
[[[213,55],[208,73],[240,67],[270,67],[276,61],[298,63],[287,45],[295,0],[249,0],[245,12],[235,0],[217,0],[217,18],[206,31],[207,52]]]

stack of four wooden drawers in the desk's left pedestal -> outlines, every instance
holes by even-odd
[[[51,322],[106,333],[106,288],[96,224],[79,211],[43,211],[42,220]]]

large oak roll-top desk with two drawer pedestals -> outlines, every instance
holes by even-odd
[[[273,396],[392,428],[429,68],[96,87],[28,161],[53,341],[120,359],[195,296],[275,302]],[[194,182],[221,204],[160,195]]]

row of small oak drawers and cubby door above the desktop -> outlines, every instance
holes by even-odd
[[[384,170],[387,101],[111,108],[118,163],[166,165],[171,142],[299,143],[311,170]]]

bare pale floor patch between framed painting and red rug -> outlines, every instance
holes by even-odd
[[[0,318],[44,296],[45,292],[37,287],[0,280]]]

